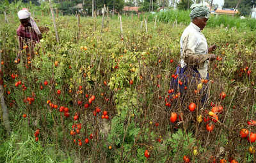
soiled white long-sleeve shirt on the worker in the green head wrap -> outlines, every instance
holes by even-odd
[[[208,73],[208,45],[204,34],[194,23],[190,23],[180,37],[180,66],[196,66],[201,78]]]

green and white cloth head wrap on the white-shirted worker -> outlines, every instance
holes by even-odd
[[[206,4],[192,4],[191,7],[191,12],[189,14],[191,19],[194,19],[196,17],[205,17],[205,18],[209,18],[210,15],[210,10],[209,8],[206,6]]]

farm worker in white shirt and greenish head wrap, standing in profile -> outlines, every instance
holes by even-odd
[[[176,67],[175,73],[177,77],[172,78],[170,84],[170,87],[176,91],[179,87],[181,94],[191,83],[197,86],[201,79],[209,80],[208,63],[215,59],[215,55],[211,52],[216,49],[216,45],[208,48],[204,34],[201,32],[207,24],[209,8],[200,3],[192,4],[190,9],[191,22],[180,38],[180,64]],[[205,102],[205,97],[201,102]]]

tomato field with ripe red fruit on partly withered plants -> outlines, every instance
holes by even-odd
[[[34,55],[24,47],[19,64],[19,19],[0,25],[11,128],[1,110],[0,162],[256,161],[254,30],[206,26],[208,45],[217,45],[210,79],[181,97],[170,82],[186,25],[143,15],[77,19],[56,18],[58,43],[51,17],[36,16],[49,31]]]

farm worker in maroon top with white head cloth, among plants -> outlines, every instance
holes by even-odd
[[[36,43],[40,42],[42,34],[27,8],[20,10],[18,17],[20,19],[20,26],[17,29],[17,35],[19,37],[20,50],[26,48],[27,53],[33,52],[34,46]],[[19,58],[19,56],[20,54],[18,54],[17,58]],[[17,58],[15,63],[17,63]]]

